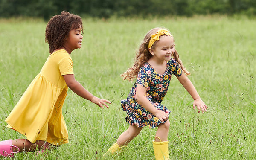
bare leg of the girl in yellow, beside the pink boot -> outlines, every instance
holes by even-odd
[[[20,152],[30,152],[30,151],[40,151],[41,149],[43,149],[42,148],[43,146],[49,148],[49,146],[51,146],[52,144],[43,140],[37,140],[35,141],[35,143],[31,143],[27,139],[16,139],[16,140],[12,140],[12,145],[15,145],[18,148],[20,148]],[[17,152],[17,148],[15,147],[12,147],[12,150],[14,152]]]

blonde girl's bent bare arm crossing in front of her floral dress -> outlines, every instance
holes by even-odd
[[[137,84],[136,89],[136,99],[140,103],[140,105],[143,106],[147,111],[154,114],[160,121],[164,122],[168,119],[168,113],[165,113],[164,111],[158,110],[152,103],[148,100],[148,98],[145,96],[145,93],[147,91],[147,88],[143,87],[140,84]]]

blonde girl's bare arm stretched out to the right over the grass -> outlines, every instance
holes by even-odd
[[[198,113],[200,113],[200,109],[201,109],[202,113],[204,113],[204,111],[207,111],[207,106],[201,100],[198,92],[196,91],[196,89],[195,89],[194,85],[192,84],[192,82],[190,81],[190,79],[183,73],[181,74],[180,77],[177,77],[177,79],[180,81],[180,83],[183,85],[183,87],[188,91],[188,93],[194,99],[193,108],[195,109],[195,106],[197,106]]]

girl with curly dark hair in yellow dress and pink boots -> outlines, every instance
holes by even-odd
[[[45,41],[49,44],[50,55],[5,120],[7,127],[25,135],[26,139],[1,141],[0,157],[13,157],[13,153],[24,151],[43,151],[52,145],[68,143],[62,115],[68,88],[101,108],[111,103],[93,96],[74,77],[70,54],[81,48],[82,33],[82,20],[78,15],[63,11],[49,20]]]

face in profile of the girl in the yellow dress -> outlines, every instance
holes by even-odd
[[[79,26],[77,29],[70,30],[68,37],[65,41],[64,48],[68,53],[71,53],[73,50],[81,48],[83,35],[82,28]]]

